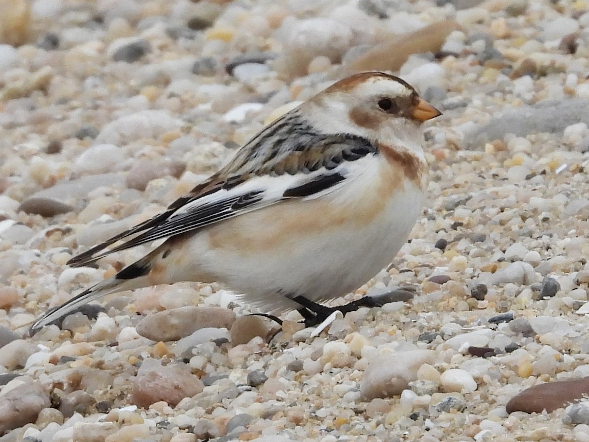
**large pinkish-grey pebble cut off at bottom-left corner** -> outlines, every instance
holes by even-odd
[[[41,410],[51,405],[39,382],[27,382],[0,396],[0,434],[34,423]]]

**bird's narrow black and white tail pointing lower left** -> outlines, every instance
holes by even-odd
[[[151,260],[149,258],[149,255],[145,256],[145,258],[125,267],[116,275],[111,276],[111,278],[105,279],[104,281],[91,286],[79,295],[71,298],[69,301],[64,302],[64,304],[45,312],[45,314],[37,319],[35,324],[29,328],[29,335],[34,335],[45,325],[58,321],[64,316],[71,314],[82,305],[94,301],[94,299],[110,295],[111,293],[123,292],[125,290],[132,290],[151,285],[147,280],[147,273],[149,273],[151,269]]]

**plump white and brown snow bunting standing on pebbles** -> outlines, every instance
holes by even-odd
[[[31,335],[101,296],[181,281],[220,282],[267,314],[297,309],[317,324],[333,309],[322,302],[368,282],[408,239],[428,179],[422,123],[440,115],[386,72],[336,81],[162,213],[70,259],[87,266],[165,239],[45,312]]]

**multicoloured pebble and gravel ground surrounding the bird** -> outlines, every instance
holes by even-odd
[[[584,1],[2,1],[0,441],[589,441],[587,29]],[[179,283],[28,337],[148,246],[71,256],[373,69],[444,112],[412,239],[334,304],[393,302],[314,336]]]

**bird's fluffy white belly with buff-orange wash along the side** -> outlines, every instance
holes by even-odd
[[[377,184],[354,183],[336,204],[284,202],[213,226],[190,242],[194,268],[267,312],[299,307],[288,299],[297,295],[322,301],[352,292],[391,262],[421,212],[416,184],[385,195]]]

